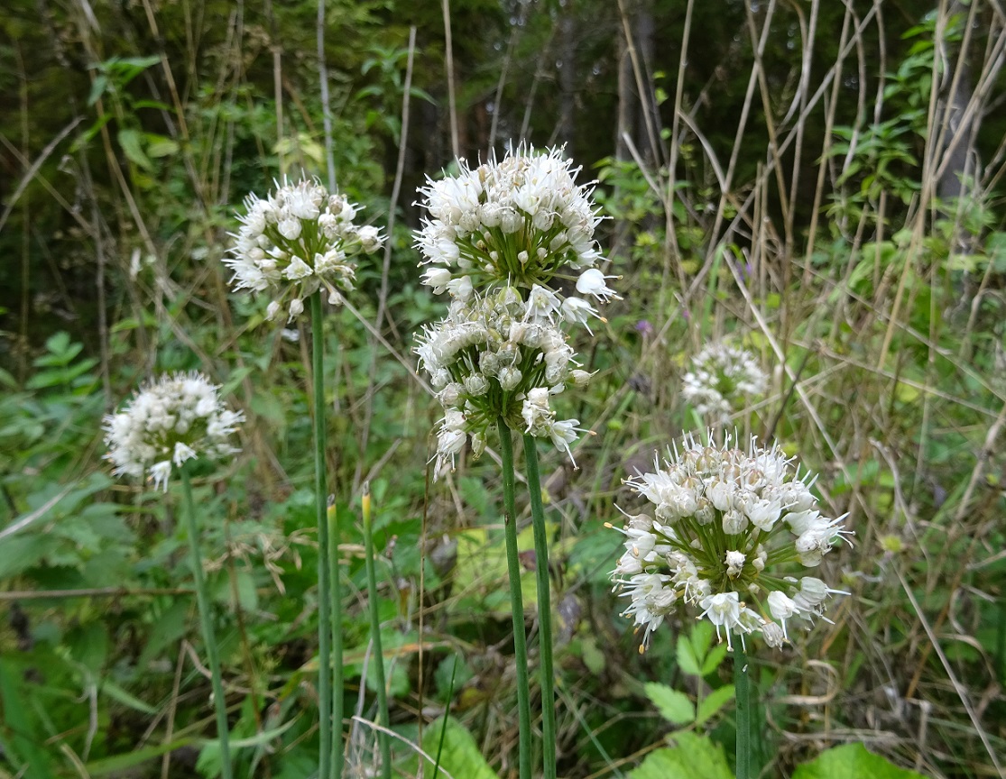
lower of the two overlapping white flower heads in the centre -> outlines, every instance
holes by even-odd
[[[471,437],[476,456],[502,417],[511,429],[550,438],[569,454],[580,428],[555,420],[549,398],[568,385],[585,385],[565,337],[547,317],[502,287],[455,302],[447,319],[428,328],[415,350],[444,407],[438,430],[437,471],[453,462]]]

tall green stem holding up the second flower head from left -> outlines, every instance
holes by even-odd
[[[330,779],[332,774],[332,604],[329,584],[328,491],[325,488],[325,340],[322,334],[321,293],[311,296],[311,350],[314,379],[315,423],[315,505],[318,523],[318,776]],[[336,672],[342,676],[342,668]],[[339,713],[339,732],[342,717]]]

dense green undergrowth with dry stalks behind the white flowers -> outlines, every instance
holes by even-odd
[[[376,592],[359,526],[337,539],[348,775],[372,775],[377,749],[375,597],[396,770],[431,776],[408,744],[436,753],[443,732],[456,779],[516,776],[498,458],[463,454],[432,478],[440,413],[412,350],[444,299],[420,282],[412,230],[426,176],[522,140],[564,144],[598,179],[607,272],[622,276],[596,338],[575,343],[597,373],[568,415],[596,435],[575,469],[541,452],[559,775],[698,776],[680,753],[730,752],[725,646],[682,613],[639,653],[604,527],[616,504],[638,509],[624,478],[709,422],[682,377],[724,338],[771,376],[731,424],[799,454],[856,534],[822,566],[851,593],[833,624],[751,655],[763,775],[835,775],[834,753],[818,756],[847,742],[927,776],[1001,775],[1001,4],[443,10],[0,10],[0,777],[219,770],[179,504],[102,460],[103,416],[190,369],[246,416],[242,453],[194,483],[238,775],[317,768],[310,334],[230,295],[221,261],[241,199],[302,171],[389,235],[325,330],[335,510],[357,516],[368,482],[376,512]],[[658,750],[672,730],[680,749]],[[842,754],[856,776],[894,771]]]

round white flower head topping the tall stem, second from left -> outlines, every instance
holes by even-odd
[[[340,290],[353,288],[354,255],[372,253],[384,242],[376,227],[353,223],[357,206],[317,181],[277,182],[275,193],[265,200],[250,194],[244,207],[241,227],[231,233],[233,256],[223,261],[234,271],[234,289],[272,299],[271,320],[284,310],[288,322],[299,317],[304,299],[322,287],[329,303],[340,303]]]

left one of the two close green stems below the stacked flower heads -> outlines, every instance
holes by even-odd
[[[500,458],[503,460],[503,535],[510,578],[510,612],[513,615],[513,656],[517,668],[518,768],[520,779],[531,779],[531,705],[527,683],[527,636],[524,632],[524,599],[520,592],[520,557],[517,551],[517,512],[514,502],[513,441],[510,428],[499,417]]]

